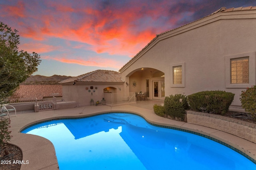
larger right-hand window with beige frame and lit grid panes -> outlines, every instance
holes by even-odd
[[[255,85],[255,52],[225,56],[226,88]]]

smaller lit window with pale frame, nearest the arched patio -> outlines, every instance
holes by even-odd
[[[185,63],[170,64],[171,87],[185,87]]]

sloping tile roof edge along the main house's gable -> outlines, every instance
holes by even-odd
[[[205,17],[203,17],[203,18],[212,16],[212,15],[214,15],[214,14],[216,14],[216,13],[219,13],[219,12],[232,12],[232,11],[244,11],[244,10],[256,10],[256,6],[239,7],[239,8],[229,8],[229,9],[226,9],[226,7],[222,7],[222,8],[220,8],[219,10],[217,10],[217,11],[213,12],[212,14],[210,14],[210,15],[208,15],[208,16],[205,16]],[[187,24],[185,24],[185,25],[182,25],[182,26],[180,26],[180,27],[184,27],[184,26],[189,25],[189,24],[191,24],[191,23],[194,23],[194,22],[196,22],[196,21],[202,20],[203,18],[200,18],[200,19],[198,19],[198,20],[192,21],[192,22],[187,23]],[[146,49],[151,43],[153,43],[156,39],[158,39],[158,37],[159,37],[160,35],[163,35],[163,34],[168,33],[168,32],[170,32],[170,31],[176,30],[176,29],[178,29],[178,28],[180,28],[180,27],[177,27],[177,28],[175,28],[175,29],[171,29],[171,30],[169,30],[169,31],[165,31],[165,32],[160,33],[160,34],[157,34],[156,37],[154,37],[141,51],[139,51],[132,59],[130,59],[130,61],[128,61],[126,64],[124,64],[124,66],[122,66],[122,68],[120,68],[119,71],[121,71],[121,70],[122,70],[126,65],[128,65],[129,63],[132,63],[132,62],[138,57],[138,55],[140,55],[140,53],[142,53],[142,52],[144,51],[144,49]]]

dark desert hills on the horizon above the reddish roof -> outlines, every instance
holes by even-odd
[[[47,77],[47,76],[35,75],[27,78],[27,80],[22,82],[21,85],[42,85],[42,84],[54,85],[68,78],[72,78],[72,76],[53,75],[53,76]]]

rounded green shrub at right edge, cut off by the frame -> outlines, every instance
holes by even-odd
[[[245,111],[256,117],[256,86],[247,88],[240,94],[240,101]]]

